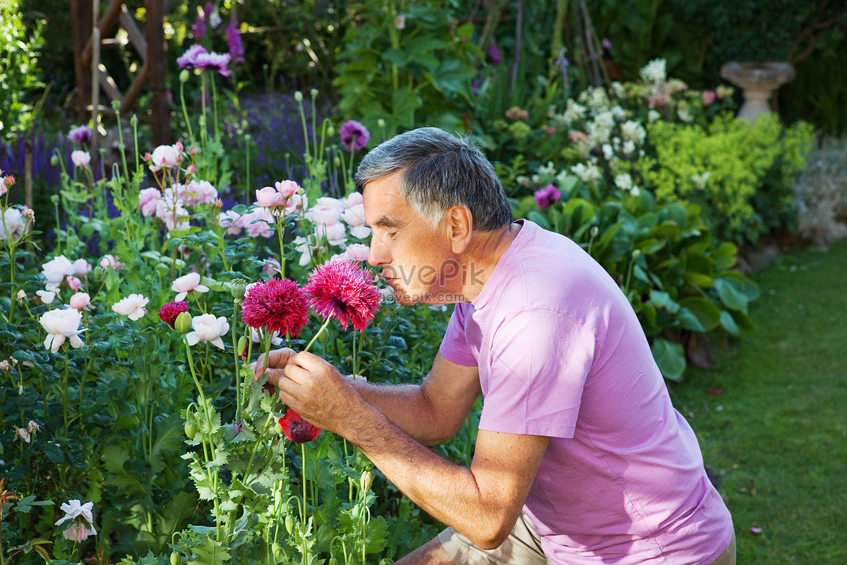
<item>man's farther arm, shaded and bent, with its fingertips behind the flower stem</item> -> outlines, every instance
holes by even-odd
[[[278,381],[283,368],[295,355],[291,349],[278,349],[268,357],[268,380]],[[256,376],[263,374],[259,357]],[[414,440],[433,446],[451,439],[462,426],[473,402],[481,392],[479,370],[451,363],[440,353],[422,385],[379,385],[363,380],[350,381],[365,402],[376,408]]]

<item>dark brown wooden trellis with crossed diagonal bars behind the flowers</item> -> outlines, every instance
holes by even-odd
[[[102,14],[98,13],[98,0],[70,0],[80,121],[87,121],[92,112],[112,113],[113,101],[119,101],[120,113],[127,115],[135,107],[141,93],[147,89],[152,93],[150,111],[139,118],[149,121],[152,125],[155,145],[171,142],[164,4],[165,0],[145,0],[147,23],[142,32],[135,17],[126,7],[125,0],[109,0]],[[115,42],[113,39],[104,42],[103,37],[108,36],[116,24],[125,30],[130,44],[141,58],[141,68],[136,70],[130,86],[125,91],[121,91],[100,60],[100,48],[104,44]],[[105,96],[105,104],[100,103],[101,93]]]

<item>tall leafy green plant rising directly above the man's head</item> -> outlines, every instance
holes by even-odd
[[[421,123],[457,130],[457,102],[470,97],[479,56],[469,42],[473,25],[453,23],[449,0],[364,0],[352,14],[333,80],[340,114],[386,137]]]

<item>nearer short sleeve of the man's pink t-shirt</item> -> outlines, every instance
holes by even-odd
[[[595,334],[567,315],[532,309],[514,314],[490,346],[480,429],[573,437]]]

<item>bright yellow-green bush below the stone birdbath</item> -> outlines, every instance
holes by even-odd
[[[657,121],[647,134],[656,156],[639,159],[634,171],[659,202],[700,204],[716,235],[732,241],[756,241],[789,224],[810,125],[783,128],[766,114],[750,126],[723,115],[706,128]]]

